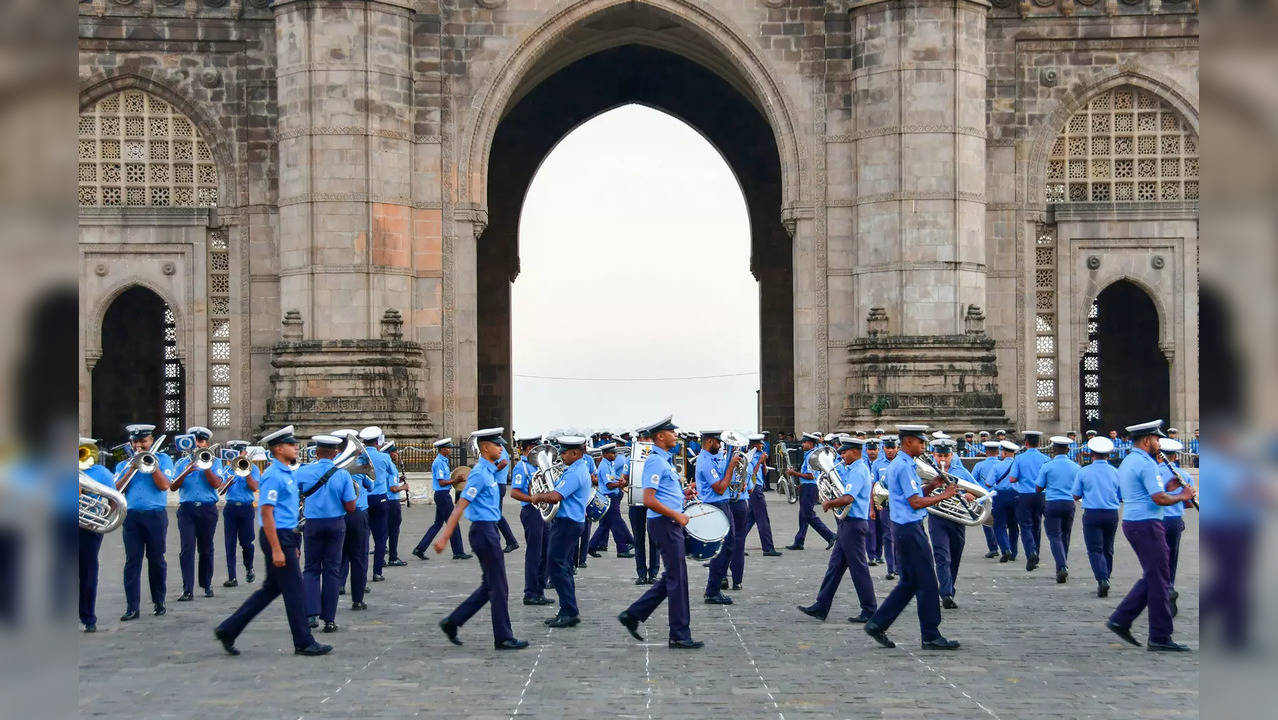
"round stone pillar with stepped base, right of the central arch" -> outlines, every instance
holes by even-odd
[[[985,0],[851,6],[856,302],[872,312],[849,349],[841,427],[1003,417],[979,309],[988,10]]]

